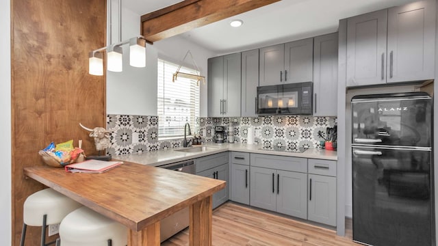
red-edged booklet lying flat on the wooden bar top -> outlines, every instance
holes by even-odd
[[[107,172],[114,167],[122,165],[121,161],[99,161],[99,160],[88,160],[81,163],[73,163],[66,165],[66,172],[72,173],[89,173],[89,174],[100,174]]]

